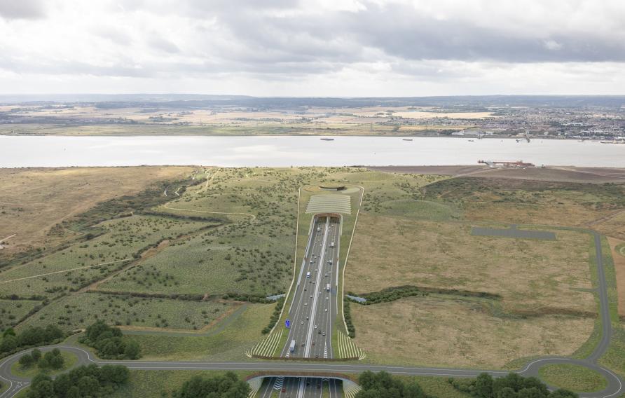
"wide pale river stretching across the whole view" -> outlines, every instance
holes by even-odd
[[[0,136],[0,167],[218,165],[535,165],[625,167],[625,144],[576,140],[401,137]]]

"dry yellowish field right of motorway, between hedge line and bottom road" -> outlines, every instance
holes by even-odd
[[[593,330],[589,318],[493,317],[479,304],[434,297],[350,308],[355,343],[380,364],[500,368],[521,357],[570,355]]]

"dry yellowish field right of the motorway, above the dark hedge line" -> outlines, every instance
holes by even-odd
[[[361,213],[345,270],[356,294],[414,285],[488,292],[515,313],[596,313],[589,235],[555,231],[556,241],[473,236],[460,222]]]

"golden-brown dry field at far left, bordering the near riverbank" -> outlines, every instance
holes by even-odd
[[[78,234],[52,228],[96,203],[133,195],[160,181],[186,177],[193,167],[72,167],[0,169],[0,262],[13,254],[54,247]]]

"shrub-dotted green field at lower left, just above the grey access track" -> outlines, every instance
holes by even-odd
[[[56,324],[65,331],[83,329],[96,320],[135,328],[202,329],[233,308],[233,303],[182,301],[87,292],[64,296],[20,324]]]

